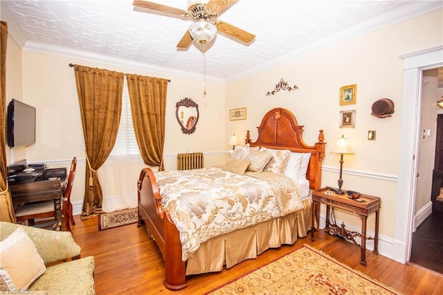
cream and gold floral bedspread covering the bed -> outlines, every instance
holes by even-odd
[[[220,168],[156,172],[162,206],[180,233],[182,259],[217,235],[298,211],[298,186],[272,172]]]

